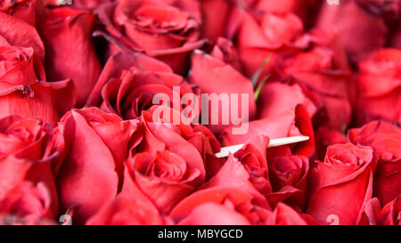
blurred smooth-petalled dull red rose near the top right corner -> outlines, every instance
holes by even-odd
[[[374,11],[367,11],[360,4],[361,2],[366,1],[341,1],[340,4],[323,3],[317,20],[318,28],[339,33],[347,52],[354,61],[383,47],[386,44],[388,33],[388,28],[381,15]]]

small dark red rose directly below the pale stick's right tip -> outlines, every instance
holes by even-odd
[[[274,193],[267,196],[270,205],[275,207],[283,201],[302,211],[306,205],[307,174],[309,160],[305,156],[282,154],[268,161],[270,182]]]

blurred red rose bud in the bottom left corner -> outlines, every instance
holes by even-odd
[[[0,199],[0,224],[4,215],[18,217],[16,223],[24,225],[49,223],[54,220],[51,212],[52,199],[44,183],[33,185],[31,182],[22,182],[9,190],[3,199]]]

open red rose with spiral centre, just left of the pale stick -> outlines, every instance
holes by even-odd
[[[130,192],[135,185],[160,213],[168,214],[205,181],[207,155],[213,156],[220,147],[216,138],[199,126],[155,121],[152,112],[154,109],[143,111],[138,118],[137,139],[126,161],[121,194],[135,199]],[[168,112],[180,115],[173,109]]]

